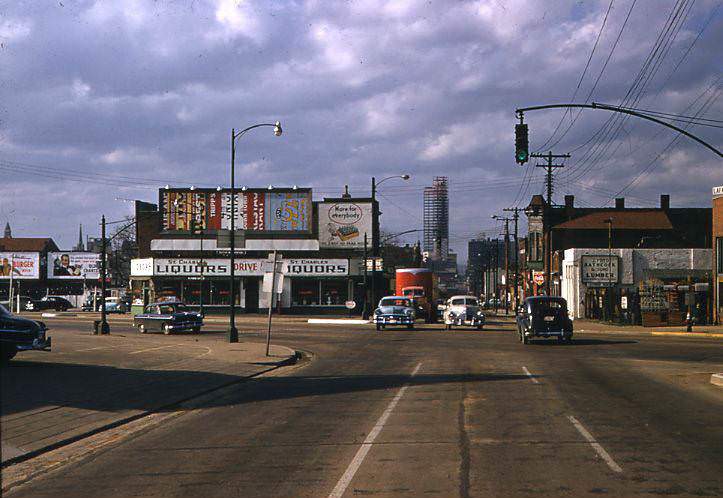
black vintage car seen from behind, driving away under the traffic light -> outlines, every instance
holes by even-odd
[[[572,340],[572,320],[567,315],[567,301],[561,297],[526,298],[517,309],[516,321],[523,344],[536,337],[557,337],[560,342]]]

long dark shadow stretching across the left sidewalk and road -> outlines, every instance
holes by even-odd
[[[214,388],[247,380],[245,389],[205,406],[331,395],[359,391],[459,382],[526,380],[526,375],[486,373],[468,375],[402,374],[260,377],[248,379],[185,370],[138,370],[97,365],[34,363],[17,361],[3,370],[1,411],[3,416],[55,407],[94,411],[159,410]]]

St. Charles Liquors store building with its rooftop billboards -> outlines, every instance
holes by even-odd
[[[247,189],[237,193],[235,206],[237,306],[248,313],[268,309],[263,282],[275,252],[280,310],[339,313],[352,302],[361,310],[364,238],[370,248],[377,234],[371,199],[314,202],[311,189]],[[134,305],[179,299],[207,313],[227,312],[230,193],[162,189],[157,208],[143,203],[136,210],[141,257],[131,267]]]

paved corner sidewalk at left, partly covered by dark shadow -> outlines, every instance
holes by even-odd
[[[102,347],[18,356],[3,368],[3,466],[296,360],[283,346],[272,346],[267,357],[261,342],[103,340]]]

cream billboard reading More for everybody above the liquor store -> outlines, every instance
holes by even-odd
[[[371,202],[320,202],[319,247],[363,249],[372,244]]]

